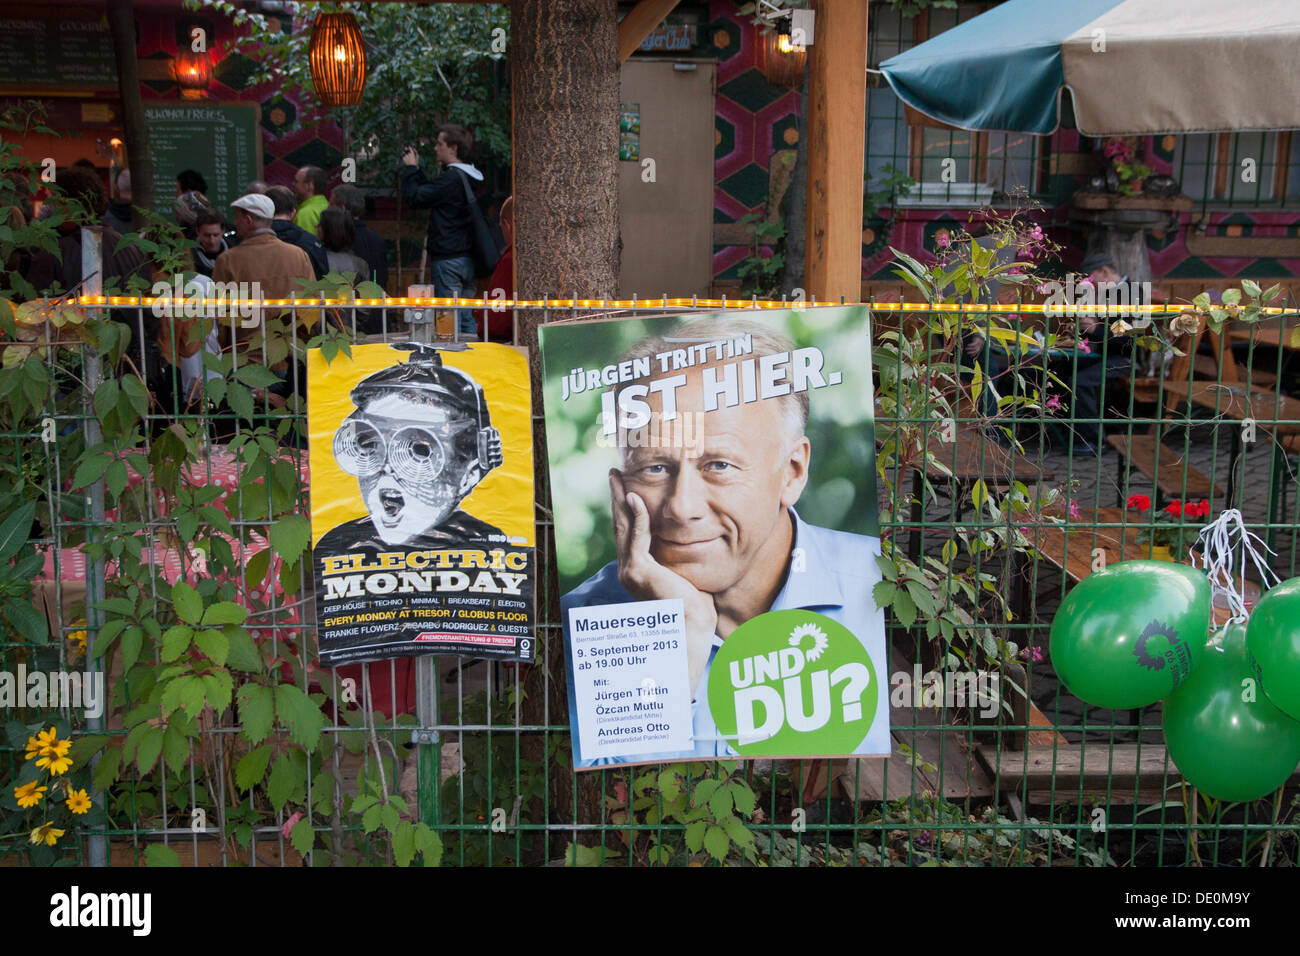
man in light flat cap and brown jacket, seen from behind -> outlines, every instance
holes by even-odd
[[[296,246],[281,242],[270,228],[276,216],[276,206],[264,195],[250,194],[230,203],[235,211],[235,232],[239,245],[222,252],[212,269],[213,282],[247,282],[251,294],[263,299],[287,299],[302,291],[295,280],[312,281],[311,259]],[[233,333],[226,332],[228,321],[222,321],[221,342],[234,347],[242,355],[242,362],[261,362],[261,315],[254,320],[234,320]]]

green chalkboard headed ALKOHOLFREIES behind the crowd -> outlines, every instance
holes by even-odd
[[[261,127],[254,103],[169,103],[146,105],[153,156],[155,209],[172,217],[176,174],[196,169],[208,181],[208,199],[222,216],[261,177]]]

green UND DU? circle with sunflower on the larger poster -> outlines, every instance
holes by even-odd
[[[708,671],[718,732],[745,757],[853,753],[876,700],[876,670],[862,641],[815,611],[746,620]]]

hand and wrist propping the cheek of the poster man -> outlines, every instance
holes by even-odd
[[[718,632],[714,598],[654,559],[650,554],[650,511],[640,494],[624,492],[623,476],[616,468],[610,470],[610,510],[614,514],[614,544],[619,553],[619,583],[638,601],[681,598],[686,613],[686,666],[694,698]]]

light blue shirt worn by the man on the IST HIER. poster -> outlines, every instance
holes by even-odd
[[[878,689],[884,696],[884,614],[876,607],[871,589],[881,580],[876,555],[880,538],[852,535],[807,524],[790,509],[794,518],[794,544],[792,554],[802,549],[802,571],[789,571],[785,584],[768,610],[783,611],[806,609],[824,614],[844,624],[862,641],[876,665]],[[793,562],[792,562],[793,566]],[[608,564],[588,578],[582,584],[560,598],[560,619],[564,623],[566,675],[568,680],[569,727],[573,734],[575,754],[582,752],[578,740],[577,695],[573,683],[572,643],[569,639],[569,609],[595,605],[628,604],[636,601],[619,583],[619,562]],[[696,688],[692,701],[694,750],[671,753],[644,753],[634,757],[608,757],[577,761],[580,767],[615,763],[666,763],[701,757],[736,757],[732,745],[718,735],[718,724],[708,710],[708,672],[714,657],[722,646],[722,637],[714,636],[708,663]],[[888,714],[888,705],[878,708],[878,714]]]

